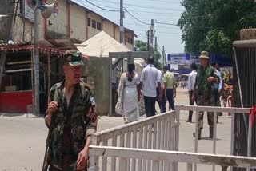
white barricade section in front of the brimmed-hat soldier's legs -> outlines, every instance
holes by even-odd
[[[217,135],[217,113],[231,113],[231,128],[230,128],[230,155],[234,155],[234,117],[235,114],[249,114],[250,108],[223,108],[223,107],[211,107],[211,106],[190,106],[190,105],[177,105],[176,113],[180,113],[181,110],[195,111],[195,141],[194,141],[194,153],[198,153],[198,116],[200,112],[212,112],[214,113],[214,137],[213,137],[213,153],[216,153],[216,135]],[[179,116],[179,115],[178,115]],[[247,135],[247,157],[251,157],[251,142],[252,142],[252,125],[251,116],[249,115],[248,124],[248,135]],[[189,164],[192,168],[193,164]],[[197,165],[194,164],[194,171],[197,170]],[[215,170],[215,165],[213,165],[213,171]],[[232,171],[233,168],[231,167]],[[247,168],[247,171],[250,169]]]

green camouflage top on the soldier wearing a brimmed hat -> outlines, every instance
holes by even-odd
[[[214,82],[207,82],[207,78],[214,77],[216,78],[216,82],[219,82],[218,74],[215,73],[215,70],[211,66],[206,66],[206,69],[204,70],[202,66],[198,68],[198,74],[195,79],[194,83],[194,92],[196,93],[196,96],[204,96],[204,97],[210,97],[213,95],[214,92]]]

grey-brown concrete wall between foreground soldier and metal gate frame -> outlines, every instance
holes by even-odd
[[[110,67],[107,65],[109,58],[90,57],[90,60],[85,63],[86,70],[83,75],[88,75],[87,82],[94,89],[98,115],[107,115],[110,105]]]

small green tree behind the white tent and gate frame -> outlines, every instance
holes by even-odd
[[[143,42],[142,40],[136,40],[135,48],[138,51],[148,51],[147,50],[147,42]],[[162,55],[160,54],[159,51],[154,50],[154,48],[151,46],[150,46],[150,50],[154,51],[154,66],[156,66],[158,69],[162,69],[162,64],[160,62]]]

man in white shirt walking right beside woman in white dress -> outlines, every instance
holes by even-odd
[[[142,70],[140,89],[142,89],[143,85],[146,117],[152,117],[155,115],[155,98],[157,97],[155,89],[156,82],[158,83],[158,91],[160,92],[158,101],[161,101],[162,99],[162,92],[158,69],[153,65],[154,58],[148,58],[147,63],[148,65]]]

